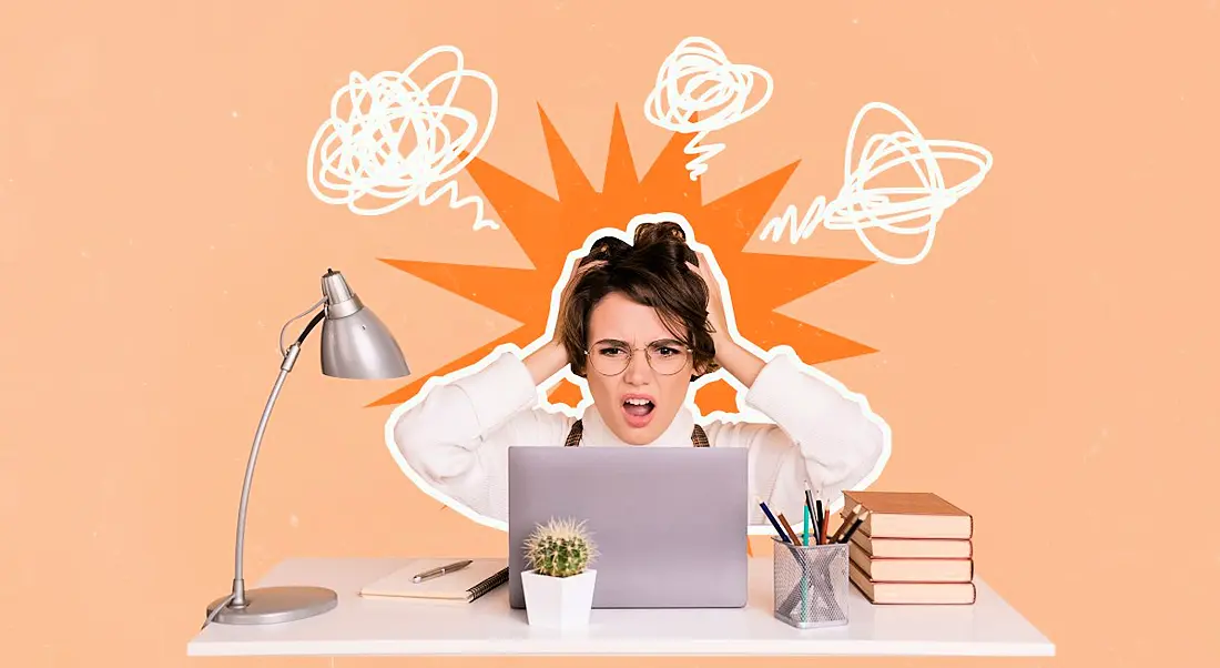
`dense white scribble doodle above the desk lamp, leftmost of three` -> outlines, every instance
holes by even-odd
[[[417,83],[415,71],[442,54],[453,55],[455,67],[427,85]],[[458,182],[453,181],[487,143],[498,101],[492,78],[467,70],[464,61],[461,50],[442,45],[401,72],[379,72],[371,78],[353,72],[348,84],[331,99],[331,117],[318,127],[310,145],[309,184],[314,194],[327,204],[344,204],[354,214],[376,216],[416,199],[426,206],[448,193],[451,209],[475,205],[476,230],[498,228],[483,217],[483,200],[475,195],[459,199]],[[483,125],[475,112],[454,105],[464,79],[487,84],[490,110]],[[445,85],[448,93],[437,99]],[[340,111],[344,100],[350,105],[345,114]],[[461,131],[455,132],[447,121],[456,121],[453,125]],[[414,148],[404,154],[404,144]],[[428,193],[429,187],[437,189]],[[366,204],[367,198],[373,204]]]

